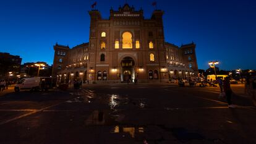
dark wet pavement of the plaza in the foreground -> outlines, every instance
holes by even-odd
[[[218,88],[86,85],[0,97],[0,143],[256,143],[256,109]]]

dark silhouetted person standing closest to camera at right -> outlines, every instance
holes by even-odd
[[[232,101],[231,101],[231,96],[232,96],[233,91],[231,90],[229,80],[230,80],[229,77],[224,78],[223,89],[224,89],[224,93],[226,94],[226,99],[228,101],[228,108],[236,108],[236,106],[234,104],[232,104]]]

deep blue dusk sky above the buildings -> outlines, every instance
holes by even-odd
[[[0,2],[0,52],[20,55],[23,62],[53,64],[53,45],[70,47],[88,42],[92,0],[6,0]],[[127,2],[142,7],[145,18],[155,9],[152,1]],[[173,0],[156,1],[164,11],[165,40],[180,46],[197,44],[199,69],[220,61],[220,69],[256,69],[256,1]],[[109,17],[112,6],[125,1],[97,1]]]

